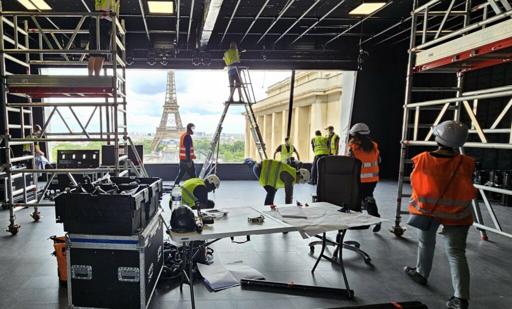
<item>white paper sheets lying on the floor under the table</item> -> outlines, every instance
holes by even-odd
[[[214,290],[231,288],[231,286],[240,285],[243,279],[265,279],[262,273],[247,266],[243,261],[236,261],[223,265],[204,265],[197,264],[204,282]]]

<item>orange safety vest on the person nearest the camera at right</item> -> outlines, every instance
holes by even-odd
[[[449,184],[460,160],[459,170]],[[475,159],[462,154],[454,158],[437,158],[423,152],[414,157],[413,162],[409,212],[435,217],[445,226],[472,225],[471,201],[477,194],[472,181]],[[436,206],[443,191],[445,193]]]

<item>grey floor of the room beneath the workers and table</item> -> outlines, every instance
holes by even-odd
[[[295,186],[294,198],[308,202],[313,191],[314,187],[310,185]],[[230,208],[263,204],[265,191],[257,182],[225,181],[211,195],[218,208]],[[382,217],[393,219],[396,182],[380,182],[375,197]],[[167,201],[168,196],[164,196],[162,204],[167,205]],[[278,192],[275,201],[284,202],[283,190]],[[502,228],[512,232],[512,208],[496,205],[494,209],[501,219]],[[9,213],[0,210],[0,307],[65,308],[67,290],[59,288],[56,260],[50,255],[53,252],[52,241],[47,240],[51,235],[63,235],[62,226],[55,224],[52,208],[42,209],[45,217],[39,222],[32,220],[30,211],[24,209],[16,213],[17,223],[22,228],[18,235],[11,236],[3,229],[8,225]],[[169,211],[164,215],[169,217]],[[490,222],[488,216],[484,218]],[[242,290],[240,286],[210,292],[203,282],[197,282],[196,305],[198,308],[329,308],[420,300],[429,308],[444,308],[446,300],[453,294],[453,287],[443,236],[438,235],[429,284],[421,286],[402,271],[404,266],[415,264],[415,230],[410,229],[403,237],[396,237],[387,231],[390,226],[391,221],[376,234],[371,230],[347,233],[347,239],[359,241],[361,249],[372,258],[369,265],[354,253],[344,253],[350,288],[355,293],[353,300],[254,292]],[[214,246],[215,262],[242,260],[263,273],[267,280],[343,288],[339,268],[328,261],[322,261],[316,272],[311,273],[317,252],[309,251],[308,242],[295,232],[253,236],[243,245],[223,239]],[[467,258],[471,269],[471,308],[512,308],[511,244],[512,239],[496,234],[489,234],[489,241],[482,241],[475,229],[470,230]],[[157,286],[150,307],[187,308],[189,300],[186,286],[180,292],[175,285],[162,283]]]

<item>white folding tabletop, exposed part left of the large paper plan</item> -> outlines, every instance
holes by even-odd
[[[265,206],[264,210],[268,209],[270,207]],[[170,238],[174,241],[191,241],[296,231],[294,227],[265,214],[263,214],[265,221],[262,223],[248,222],[248,217],[253,218],[262,215],[260,211],[251,207],[236,207],[227,210],[229,213],[220,219],[215,219],[214,224],[203,225],[203,232],[201,233],[171,232]]]

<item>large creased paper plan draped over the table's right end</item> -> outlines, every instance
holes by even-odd
[[[284,206],[284,207],[297,207],[297,206]],[[302,238],[307,239],[314,235],[322,234],[324,232],[333,230],[344,230],[351,227],[374,225],[379,222],[387,221],[387,219],[377,218],[369,214],[354,212],[350,213],[339,212],[340,207],[335,205],[328,205],[322,207],[303,207],[302,212],[307,218],[284,218],[278,211],[264,211],[265,214],[278,218],[287,224],[295,227],[302,235]]]

